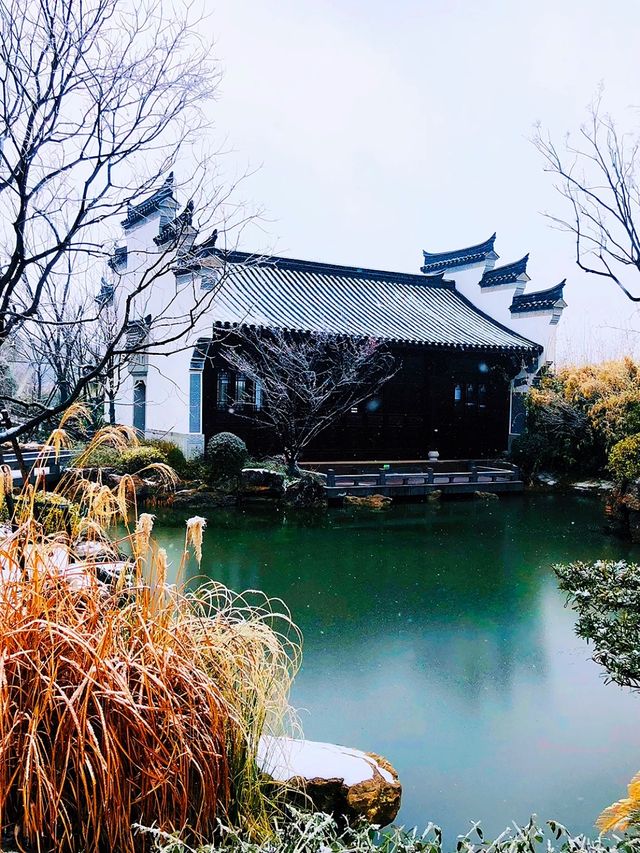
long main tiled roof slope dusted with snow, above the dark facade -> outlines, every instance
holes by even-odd
[[[211,308],[220,326],[330,332],[434,347],[540,350],[478,311],[440,276],[244,252],[213,250],[211,255],[226,262]]]

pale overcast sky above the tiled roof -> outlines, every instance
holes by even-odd
[[[530,252],[529,288],[567,278],[559,358],[640,354],[609,328],[640,314],[541,215],[562,199],[529,141],[538,120],[577,130],[600,84],[639,125],[640,0],[201,2],[225,170],[257,169],[242,195],[265,211],[243,248],[416,272],[497,231],[498,263]]]

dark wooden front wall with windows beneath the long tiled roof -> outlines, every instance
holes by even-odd
[[[489,458],[507,449],[510,382],[520,370],[513,354],[442,347],[391,347],[399,371],[380,394],[345,415],[310,445],[306,460]],[[260,420],[260,399],[248,380],[210,354],[203,371],[205,441],[233,432],[257,456],[278,452]]]

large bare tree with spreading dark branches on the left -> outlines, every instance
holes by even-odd
[[[139,271],[119,289],[117,324],[89,369],[75,365],[72,373],[61,364],[65,381],[55,401],[25,404],[21,423],[0,429],[0,441],[64,411],[132,352],[186,346],[214,298],[195,282],[186,309],[184,293],[181,301],[167,294],[155,306],[153,334],[131,344],[128,330],[144,316],[154,282],[177,258],[188,265],[196,230],[219,222],[233,189],[207,183],[209,157],[194,162],[211,127],[206,107],[218,75],[190,7],[178,7],[168,0],[170,11],[163,0],[0,0],[0,360],[28,326],[48,330],[39,337],[48,335],[54,348],[63,343],[59,354],[78,326],[97,322],[95,303],[78,316],[59,310],[66,283],[73,289],[106,268],[129,205],[155,191],[174,165],[186,163],[191,197],[206,200],[198,223],[192,226],[191,204],[162,249],[144,263],[138,258]]]

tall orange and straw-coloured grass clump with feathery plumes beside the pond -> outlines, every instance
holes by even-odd
[[[286,608],[217,583],[168,585],[153,517],[130,517],[127,486],[69,475],[57,494],[77,521],[54,533],[34,512],[43,489],[26,486],[0,532],[0,830],[73,853],[144,849],[135,825],[267,837],[273,790],[256,752],[292,719],[300,639]],[[198,561],[203,530],[187,522]],[[104,554],[123,552],[131,571],[99,580]]]

